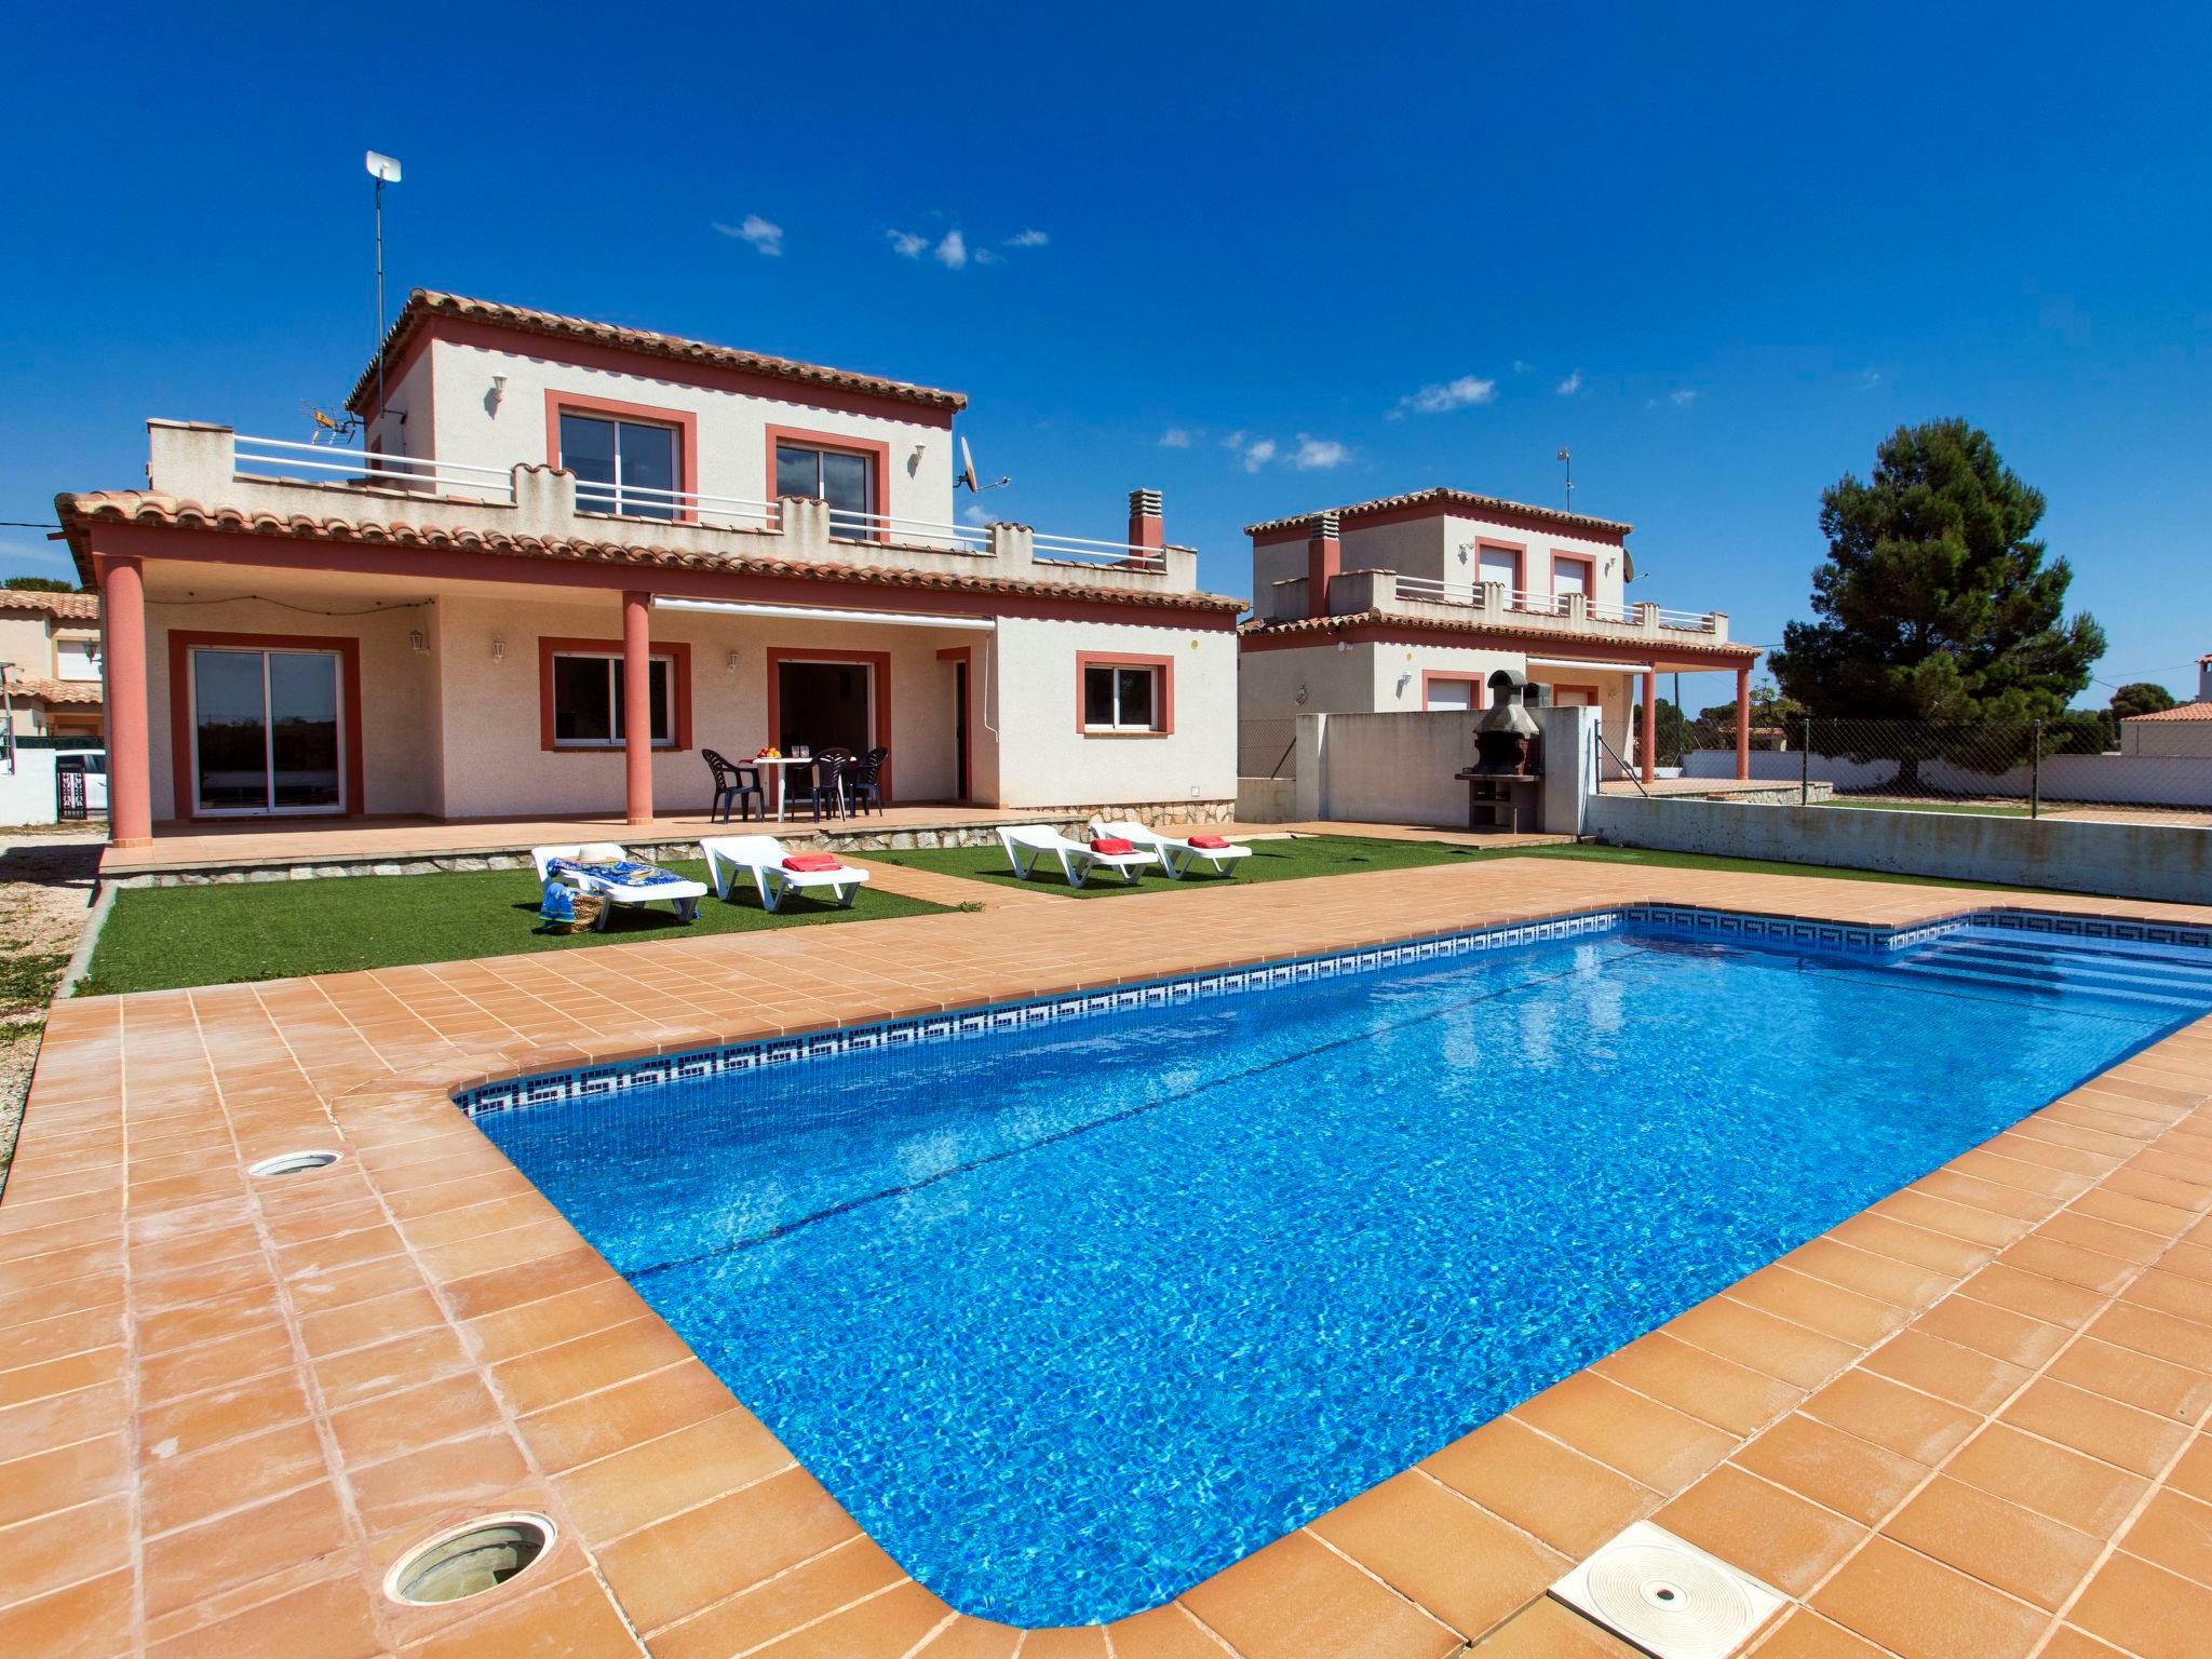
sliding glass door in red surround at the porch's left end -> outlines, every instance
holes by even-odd
[[[192,810],[345,812],[338,653],[192,650]]]

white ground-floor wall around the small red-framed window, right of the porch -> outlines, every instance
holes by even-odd
[[[1079,653],[1170,657],[1175,730],[1079,730]],[[991,719],[1000,805],[1232,801],[1237,796],[1237,635],[1126,622],[1004,617],[993,641]]]

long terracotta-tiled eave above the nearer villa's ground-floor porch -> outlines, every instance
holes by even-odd
[[[876,588],[931,588],[938,593],[1004,593],[1046,599],[1095,599],[1102,604],[1148,606],[1155,611],[1225,611],[1245,608],[1243,599],[1219,593],[1164,593],[1150,588],[1077,586],[1071,582],[1018,582],[1000,575],[967,575],[958,571],[905,571],[874,564],[812,564],[801,560],[697,553],[692,549],[633,542],[591,542],[582,538],[507,535],[500,531],[445,529],[436,524],[389,524],[380,520],[310,518],[307,513],[254,513],[239,507],[204,507],[201,502],[159,495],[144,489],[91,491],[55,495],[53,511],[62,520],[77,568],[91,566],[86,533],[93,524],[148,524],[226,535],[276,535],[296,542],[347,542],[358,546],[405,546],[453,553],[495,553],[518,560],[566,560],[575,564],[630,564],[661,571],[708,571],[726,575],[812,577]]]

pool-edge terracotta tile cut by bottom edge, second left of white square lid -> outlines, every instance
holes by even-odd
[[[1181,1597],[1239,1659],[1444,1659],[1462,1646],[1310,1533],[1292,1533]]]

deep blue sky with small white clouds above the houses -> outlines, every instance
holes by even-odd
[[[2099,679],[2188,692],[2212,24],[2110,22],[38,9],[0,53],[0,518],[137,482],[146,416],[283,436],[343,398],[376,146],[407,166],[396,294],[960,387],[1015,478],[993,511],[1117,533],[1159,487],[1228,593],[1250,520],[1440,482],[1557,502],[1571,445],[1575,507],[1639,526],[1635,597],[1772,644],[1820,489],[1962,414],[2051,498]],[[0,568],[62,560],[0,529]]]

